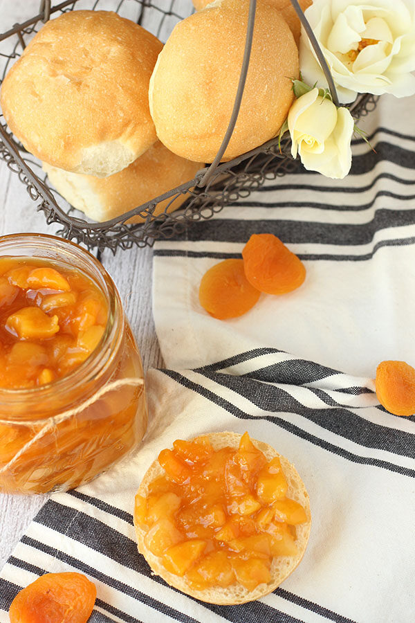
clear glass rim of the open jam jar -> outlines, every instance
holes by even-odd
[[[73,387],[74,384],[80,383],[80,381],[86,384],[93,379],[98,379],[104,371],[104,368],[107,368],[109,361],[113,359],[114,354],[118,351],[123,336],[124,311],[121,305],[120,294],[109,273],[92,253],[83,249],[79,244],[75,244],[75,242],[71,242],[70,240],[64,240],[64,238],[59,238],[58,236],[43,233],[17,233],[0,236],[0,258],[3,255],[8,255],[8,253],[4,252],[8,246],[10,247],[10,251],[16,246],[37,246],[40,251],[42,251],[42,248],[44,248],[45,251],[46,249],[55,251],[57,257],[51,259],[62,262],[63,264],[68,264],[69,258],[77,260],[80,264],[83,264],[80,270],[84,269],[87,276],[93,280],[94,284],[107,299],[109,309],[107,325],[100,342],[95,347],[95,350],[93,350],[87,359],[78,365],[77,368],[65,374],[64,377],[60,377],[51,383],[34,388],[3,388],[0,386],[0,401],[17,401],[19,399],[30,401],[30,399],[38,400],[41,397],[42,399],[47,399],[49,395],[55,394],[56,392],[66,392],[68,388]],[[6,249],[4,247],[6,247]],[[16,257],[24,257],[24,255],[16,255]],[[40,253],[35,257],[48,259],[48,257]],[[71,266],[71,268],[73,267]],[[99,281],[95,277],[94,271]],[[105,356],[102,356],[102,352],[106,347],[108,349],[108,346],[114,341],[115,344],[113,344],[111,348],[112,356],[111,353],[109,353],[109,358],[106,359]]]

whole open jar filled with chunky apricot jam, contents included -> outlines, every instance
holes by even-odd
[[[0,492],[82,485],[146,428],[140,354],[102,264],[55,236],[0,237]]]

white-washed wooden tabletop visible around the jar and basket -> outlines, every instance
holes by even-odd
[[[39,0],[0,0],[0,32],[32,17],[38,8]],[[0,235],[55,233],[58,227],[46,226],[36,206],[17,174],[0,161]],[[101,258],[120,290],[145,370],[163,364],[151,312],[151,258],[151,249],[147,248],[120,251],[116,257],[104,252]],[[0,568],[46,498],[0,494]]]

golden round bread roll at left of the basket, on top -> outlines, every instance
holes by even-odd
[[[73,10],[47,22],[1,87],[6,121],[42,161],[106,176],[156,141],[148,105],[163,45],[133,21]]]

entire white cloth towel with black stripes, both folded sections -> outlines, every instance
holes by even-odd
[[[89,485],[53,494],[1,572],[1,623],[21,586],[60,570],[97,585],[94,623],[414,621],[415,418],[380,407],[373,381],[383,359],[415,363],[413,102],[382,98],[367,120],[376,153],[356,141],[346,179],[299,171],[158,242],[166,369],[147,374],[145,442]],[[302,257],[306,282],[261,296],[241,318],[211,318],[198,304],[201,276],[259,232]],[[225,430],[248,430],[291,460],[313,516],[297,570],[242,606],[203,604],[151,575],[131,516],[160,449]]]

